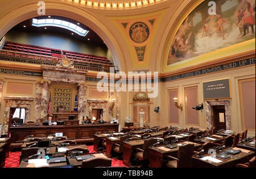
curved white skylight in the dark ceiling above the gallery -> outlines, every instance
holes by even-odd
[[[35,27],[44,27],[44,26],[53,26],[53,27],[61,27],[68,29],[70,31],[75,32],[78,35],[86,36],[89,31],[84,30],[83,28],[77,26],[76,24],[67,22],[65,20],[59,19],[32,19],[32,26]]]

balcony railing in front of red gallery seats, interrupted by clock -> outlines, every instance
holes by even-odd
[[[52,56],[34,55],[31,53],[0,50],[0,60],[56,66],[56,64],[62,59]],[[96,72],[110,72],[110,67],[114,67],[114,65],[109,64],[88,62],[81,58],[76,58],[76,60],[69,60],[73,61],[75,68],[83,70],[92,70]]]

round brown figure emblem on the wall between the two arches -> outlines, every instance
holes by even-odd
[[[149,36],[149,29],[143,22],[134,23],[130,28],[130,38],[137,42],[142,43],[147,40]]]

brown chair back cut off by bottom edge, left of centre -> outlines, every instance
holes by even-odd
[[[93,157],[82,161],[82,168],[108,167],[112,165],[112,159]]]

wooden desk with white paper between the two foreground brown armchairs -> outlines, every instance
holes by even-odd
[[[185,141],[185,142],[179,142],[177,143],[176,148],[167,148],[166,145],[159,145],[157,147],[149,147],[148,148],[148,153],[149,153],[149,167],[150,168],[160,168],[163,166],[164,161],[167,160],[167,156],[177,156],[177,152],[179,151],[179,145],[180,144],[188,144],[192,143],[190,141]],[[195,148],[201,147],[200,144],[197,143],[192,143],[194,144]]]

